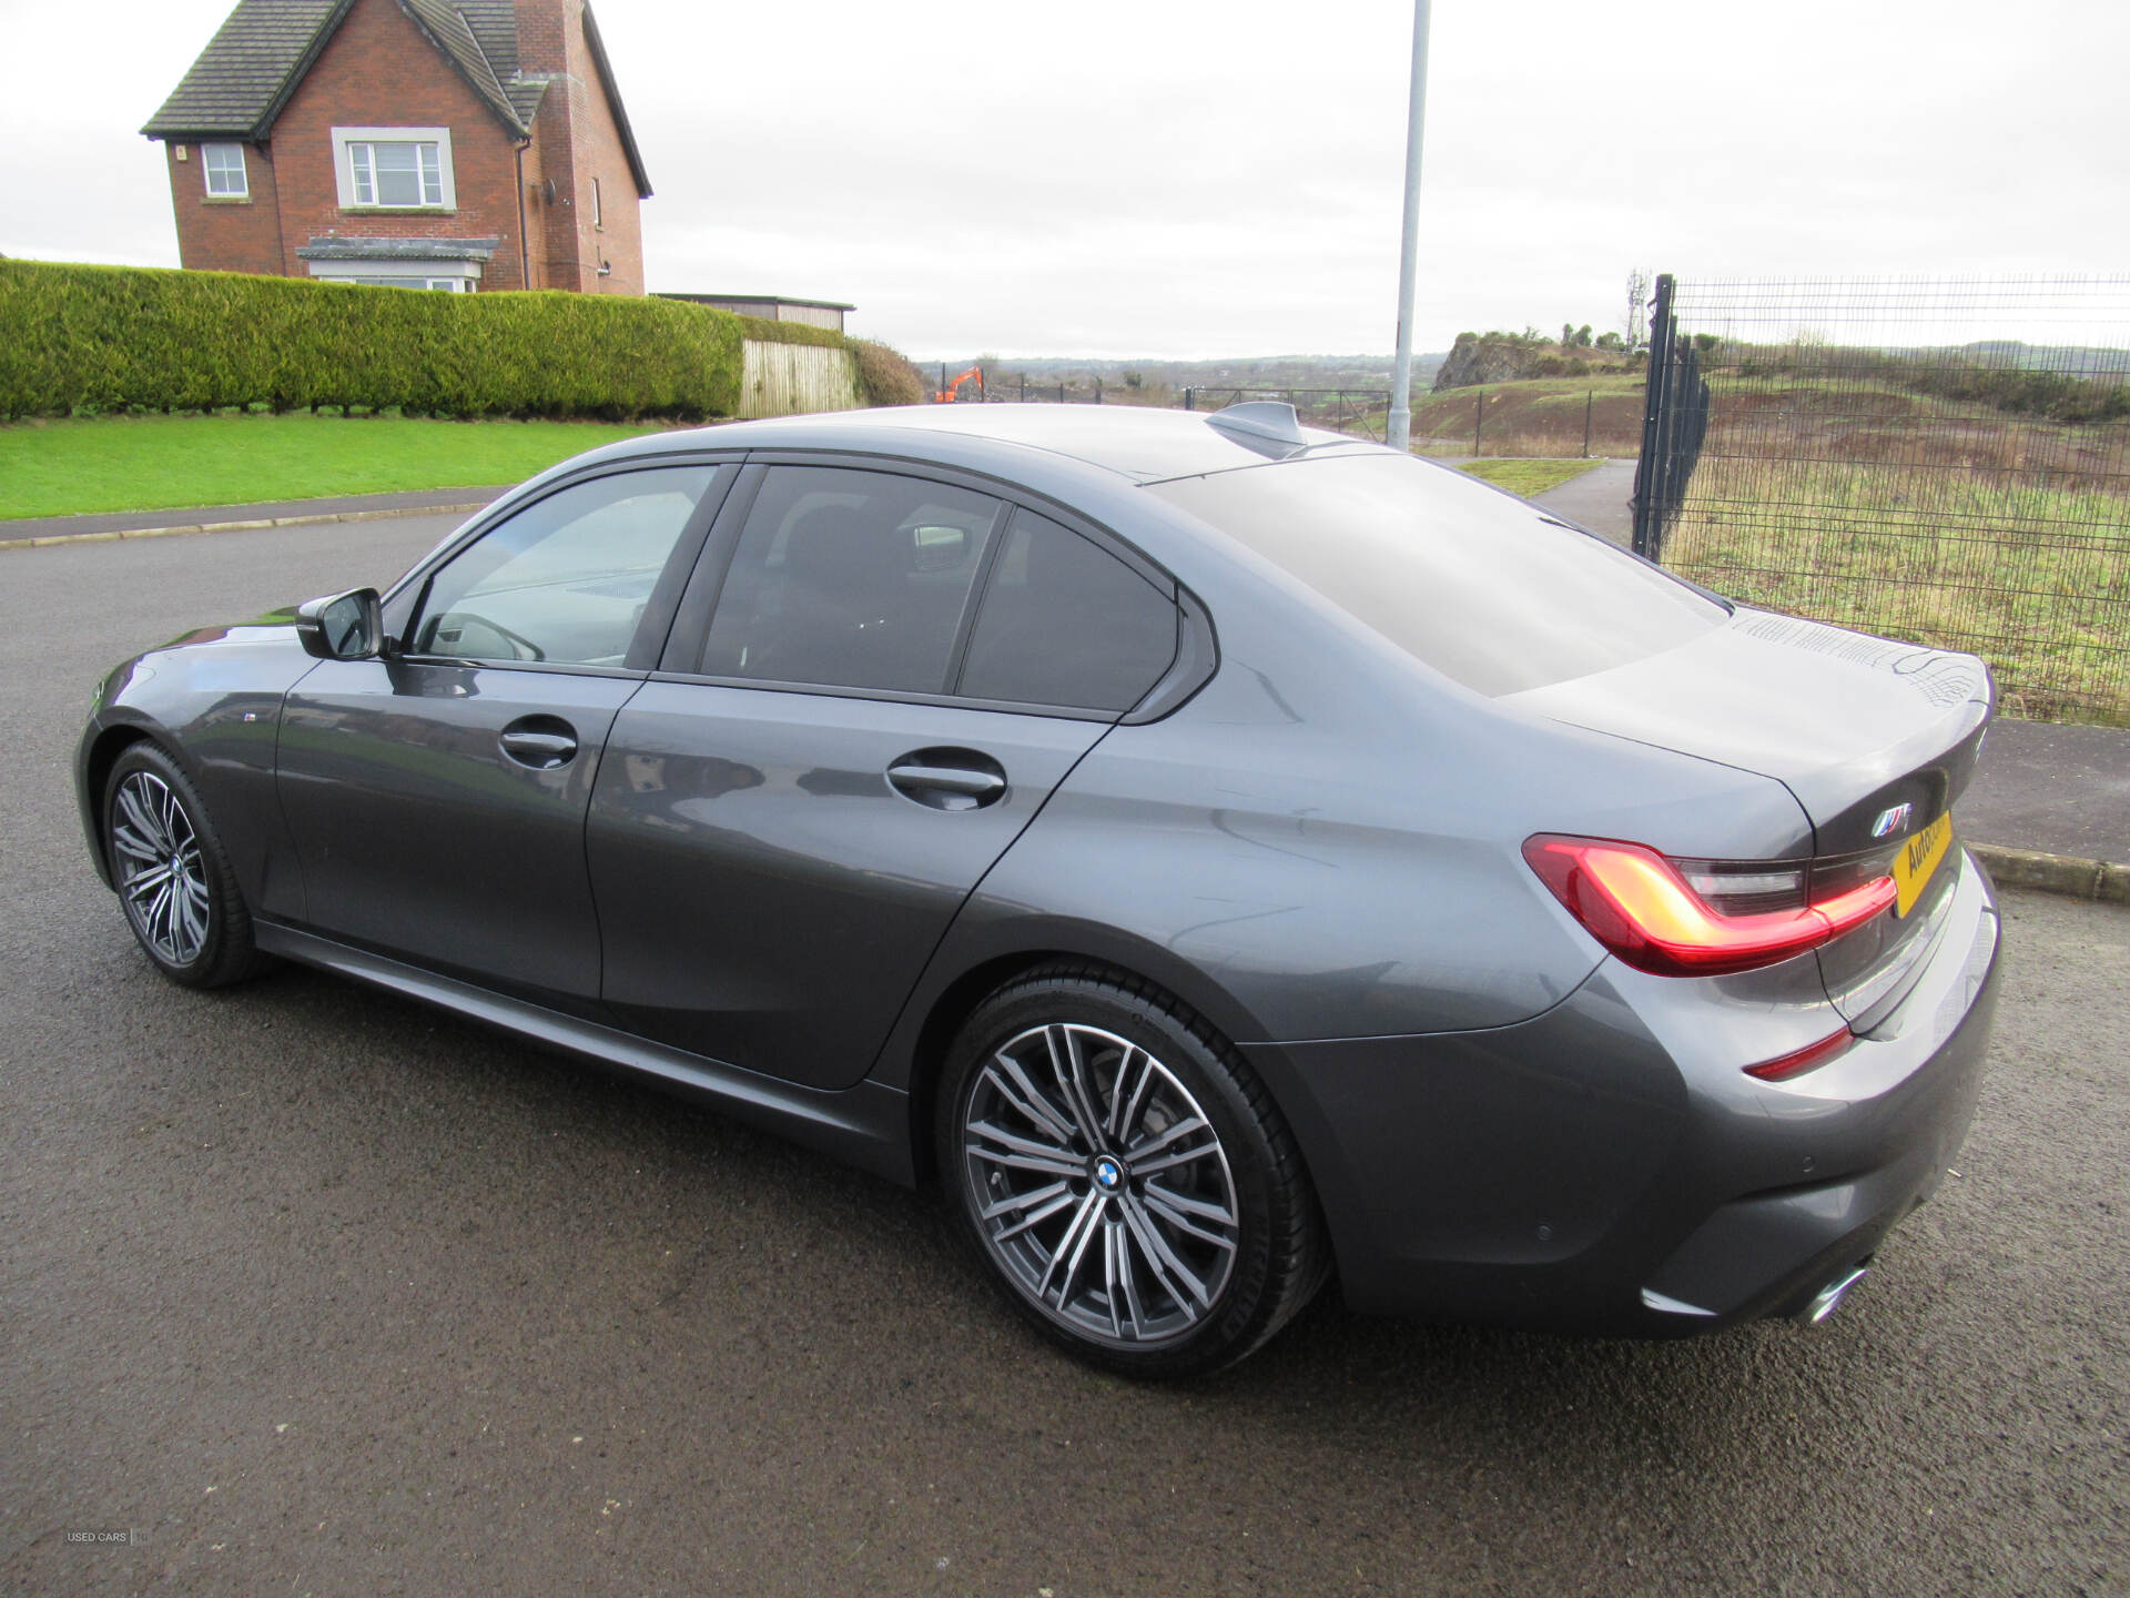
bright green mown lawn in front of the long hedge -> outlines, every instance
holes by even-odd
[[[0,426],[0,520],[513,484],[656,426],[400,415],[100,415]]]

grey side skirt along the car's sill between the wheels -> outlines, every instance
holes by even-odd
[[[871,1080],[841,1091],[780,1082],[773,1076],[720,1065],[701,1055],[601,1027],[596,1021],[579,1021],[524,999],[477,989],[471,982],[424,972],[417,965],[349,948],[317,933],[271,920],[253,923],[253,933],[260,950],[268,955],[405,993],[411,999],[484,1021],[537,1044],[581,1055],[613,1072],[652,1078],[684,1097],[699,1099],[807,1148],[818,1148],[848,1165],[886,1176],[903,1187],[916,1185],[910,1148],[910,1095],[899,1089]]]

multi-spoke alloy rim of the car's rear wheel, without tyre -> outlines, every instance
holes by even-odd
[[[1182,1080],[1078,1023],[1029,1027],[978,1067],[961,1112],[978,1236],[1020,1293],[1112,1347],[1189,1336],[1235,1268],[1227,1151]]]

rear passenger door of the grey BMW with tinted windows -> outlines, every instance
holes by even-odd
[[[982,484],[748,467],[592,795],[605,1001],[731,1065],[856,1082],[1176,635],[1174,584]]]

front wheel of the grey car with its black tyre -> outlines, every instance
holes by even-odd
[[[132,744],[111,765],[104,854],[126,923],[173,982],[213,989],[260,967],[251,912],[207,805],[155,744]]]

